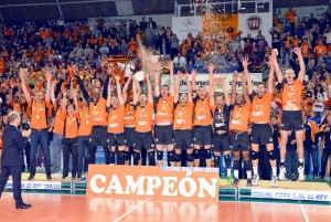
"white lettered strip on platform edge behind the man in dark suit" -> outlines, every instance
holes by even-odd
[[[6,188],[12,189],[12,180],[8,180]],[[22,190],[61,190],[61,181],[26,181],[21,182]]]

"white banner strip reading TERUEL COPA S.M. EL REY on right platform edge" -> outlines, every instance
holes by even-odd
[[[305,201],[331,201],[327,190],[252,189],[252,198]]]

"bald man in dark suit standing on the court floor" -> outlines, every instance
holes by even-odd
[[[21,197],[21,172],[22,172],[22,151],[23,137],[18,129],[21,123],[21,116],[17,112],[11,112],[8,115],[9,125],[2,133],[2,158],[1,158],[1,176],[0,176],[0,197],[3,192],[6,182],[9,176],[13,180],[13,198],[17,209],[28,209],[31,204],[23,202]]]

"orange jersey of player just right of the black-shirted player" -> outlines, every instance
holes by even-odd
[[[250,114],[250,105],[244,104],[242,106],[235,105],[232,110],[232,117],[229,121],[231,130],[247,131],[248,120]]]

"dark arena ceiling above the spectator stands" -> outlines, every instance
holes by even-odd
[[[179,4],[190,4],[195,1],[177,0]],[[228,2],[231,0],[199,1]],[[0,0],[0,19],[3,21],[29,21],[54,20],[61,14],[66,20],[99,15],[168,14],[174,13],[174,2],[175,0]],[[328,0],[274,0],[274,8],[285,8],[290,4],[293,7],[328,4]]]

